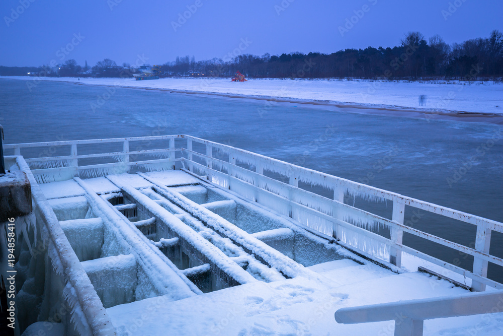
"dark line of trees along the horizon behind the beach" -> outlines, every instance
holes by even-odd
[[[251,78],[363,78],[363,79],[493,79],[503,77],[503,34],[447,44],[435,35],[428,40],[419,32],[407,33],[394,47],[345,49],[331,54],[310,52],[262,56],[229,54],[196,61],[177,57],[160,66],[160,77],[230,77],[240,71]],[[236,49],[237,50],[237,49]],[[19,70],[19,73],[14,74]],[[33,68],[0,67],[0,75],[79,77],[132,77],[138,68],[104,59],[90,68],[70,59],[57,66]],[[24,73],[23,73],[24,72]]]

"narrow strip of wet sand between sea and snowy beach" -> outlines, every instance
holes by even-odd
[[[0,77],[0,79],[6,80],[19,80],[27,81],[32,77]],[[86,78],[87,79],[87,78]],[[123,79],[115,78],[104,78],[105,80],[115,80],[118,81]],[[89,80],[89,79],[88,79]],[[91,80],[95,80],[94,78]],[[197,79],[179,79],[179,80],[197,80]],[[231,99],[253,99],[257,101],[267,101],[272,103],[288,103],[288,104],[302,104],[305,107],[328,107],[334,111],[342,111],[348,113],[362,113],[362,114],[377,114],[383,116],[401,116],[401,117],[411,117],[420,119],[436,119],[436,120],[458,120],[458,121],[475,121],[475,122],[488,122],[493,124],[503,124],[503,114],[499,113],[484,113],[484,112],[470,112],[470,111],[458,111],[458,110],[441,110],[441,109],[428,109],[428,108],[413,108],[407,106],[396,106],[396,105],[385,105],[385,104],[369,104],[369,103],[358,103],[358,102],[340,102],[331,100],[318,100],[318,99],[302,99],[293,97],[280,97],[280,96],[267,96],[267,95],[253,95],[253,94],[241,94],[241,93],[229,93],[229,92],[214,92],[214,91],[197,91],[197,90],[184,90],[184,89],[173,89],[173,88],[162,88],[162,87],[147,87],[147,86],[135,86],[135,85],[120,85],[120,84],[109,84],[109,83],[86,83],[77,80],[77,78],[61,78],[54,79],[51,77],[45,77],[38,80],[44,82],[63,82],[72,83],[76,85],[91,85],[100,87],[115,87],[124,89],[143,89],[151,91],[161,91],[169,93],[179,93],[179,94],[190,94],[190,95],[205,95],[214,97],[224,97]],[[141,81],[141,84],[144,81]],[[149,81],[148,81],[149,82]],[[134,83],[134,82],[132,82]],[[38,84],[38,83],[37,83]],[[128,83],[129,84],[129,83]],[[139,84],[139,83],[138,83]],[[146,83],[154,84],[155,83]],[[194,87],[198,88],[198,87]],[[502,102],[503,103],[503,102]]]

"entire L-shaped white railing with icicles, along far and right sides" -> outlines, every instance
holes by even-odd
[[[183,145],[186,144],[186,148],[175,148],[176,139],[182,139]],[[150,148],[151,144],[155,141],[166,140],[169,140],[169,148]],[[140,146],[140,150],[129,150],[130,143],[140,141],[148,142],[148,145]],[[78,145],[106,143],[122,143],[123,150],[121,152],[100,154],[77,154]],[[335,233],[338,238],[354,237],[357,235],[368,241],[379,243],[389,251],[389,254],[386,256],[389,258],[389,262],[398,267],[401,266],[402,252],[407,252],[444,267],[447,270],[470,278],[472,280],[472,289],[475,291],[484,291],[486,286],[503,289],[503,285],[500,283],[487,279],[487,267],[489,262],[503,266],[503,259],[489,253],[491,232],[496,231],[503,233],[503,224],[493,220],[441,207],[422,200],[303,168],[231,146],[185,135],[10,144],[5,145],[5,149],[13,150],[14,154],[21,155],[21,150],[24,148],[44,148],[50,146],[68,146],[70,149],[69,155],[27,158],[26,161],[32,167],[33,174],[35,176],[46,177],[40,178],[42,181],[47,179],[48,175],[57,174],[61,171],[70,172],[71,176],[66,178],[71,178],[80,175],[90,176],[93,174],[105,175],[126,172],[140,167],[148,167],[149,165],[152,165],[151,167],[155,169],[160,167],[158,166],[159,164],[162,165],[162,169],[173,169],[175,164],[180,162],[184,168],[187,168],[191,172],[198,172],[200,175],[206,175],[210,182],[229,188],[243,197],[256,201],[283,215],[290,216],[301,224],[320,232],[320,234],[332,236],[333,233]],[[194,149],[197,146],[199,146],[199,150]],[[176,158],[177,153],[179,154],[178,158]],[[217,153],[224,153],[224,155],[217,155]],[[153,156],[153,158],[142,161],[131,160],[132,156],[134,158],[135,155],[143,154]],[[163,155],[165,158],[157,159],[155,155]],[[79,165],[79,159],[86,158],[114,158],[116,162]],[[46,162],[59,162],[59,165],[63,162],[64,166],[38,168],[40,166],[43,167],[43,164]],[[243,164],[254,167],[254,169],[250,170],[243,168],[241,167]],[[88,174],[86,171],[93,171],[93,174]],[[265,171],[280,174],[284,177],[284,182],[264,175]],[[299,188],[299,181],[306,184],[319,185],[325,189],[331,190],[331,192],[333,192],[333,197],[327,198]],[[348,192],[370,200],[382,199],[392,202],[393,212],[391,220],[344,204],[344,194]],[[477,228],[475,248],[470,248],[407,226],[404,223],[405,205],[414,209],[475,225]],[[354,225],[355,223],[370,223],[368,226],[378,225],[380,227],[389,228],[391,232],[390,237],[387,238],[375,234],[360,227],[365,227],[365,225]],[[447,263],[427,253],[403,245],[402,236],[404,232],[473,256],[474,261],[472,270],[466,270],[465,268]],[[349,238],[346,239],[346,243],[354,245]],[[353,247],[358,249],[358,246]],[[372,251],[366,252],[373,258],[379,257]],[[382,258],[382,256],[380,257]]]

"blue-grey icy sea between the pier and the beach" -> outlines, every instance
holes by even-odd
[[[0,79],[6,143],[188,134],[503,222],[501,125],[64,82],[28,88],[27,83]],[[467,246],[474,241],[470,225],[424,216],[415,227]],[[471,262],[407,236],[404,242],[448,262]],[[503,257],[503,234],[493,233],[491,253]],[[489,278],[502,282],[503,271],[489,268]]]

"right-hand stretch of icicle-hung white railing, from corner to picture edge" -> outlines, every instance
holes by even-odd
[[[360,235],[380,241],[390,248],[389,261],[398,267],[401,265],[401,253],[407,252],[472,279],[472,289],[474,291],[484,291],[486,285],[496,289],[503,289],[503,285],[486,278],[488,262],[503,266],[503,259],[489,254],[491,231],[503,232],[502,223],[340,177],[324,174],[315,170],[299,167],[227,145],[217,144],[190,136],[186,137],[188,145],[187,150],[184,151],[188,153],[187,162],[189,169],[198,169],[203,174],[206,174],[208,179],[218,177],[215,179],[218,184],[229,187],[229,189],[232,190],[232,184],[237,182],[240,184],[238,191],[240,191],[243,186],[247,187],[250,191],[253,190],[253,197],[248,198],[262,203],[265,206],[274,207],[274,203],[270,203],[268,200],[270,200],[271,197],[276,197],[277,199],[287,201],[289,203],[288,207],[290,208],[297,208],[301,211],[315,214],[318,218],[331,221],[336,226],[342,226],[346,230],[351,230]],[[190,150],[194,146],[193,143],[205,145],[206,155]],[[213,149],[228,154],[228,162],[213,158]],[[206,164],[202,165],[194,162],[194,157],[206,161]],[[236,166],[236,161],[255,166],[255,171]],[[216,170],[214,166],[220,167],[221,169]],[[281,174],[289,183],[264,176],[264,170]],[[298,188],[297,184],[299,180],[307,184],[320,185],[333,190],[333,199]],[[343,196],[345,192],[368,199],[381,198],[392,201],[392,220],[344,204]],[[250,195],[250,193],[248,193],[248,195]],[[262,200],[260,198],[261,195],[265,196],[262,197]],[[405,205],[475,225],[477,227],[475,248],[470,248],[406,226],[403,223]],[[280,210],[280,212],[282,212],[282,209],[279,209],[279,207],[274,210]],[[373,221],[390,228],[390,238],[382,237],[343,220],[340,214],[344,215],[348,213],[360,220]],[[289,215],[292,216],[292,213]],[[403,245],[402,236],[404,232],[472,255],[474,257],[473,270],[465,270],[464,268]]]

